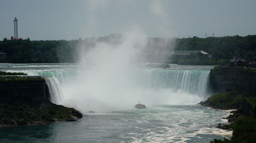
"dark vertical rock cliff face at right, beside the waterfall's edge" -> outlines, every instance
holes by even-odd
[[[256,94],[254,70],[215,67],[210,72],[210,86],[215,92],[237,91],[244,95]]]

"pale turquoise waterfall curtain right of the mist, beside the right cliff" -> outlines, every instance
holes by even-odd
[[[202,97],[206,94],[209,85],[209,75],[210,71],[207,70],[157,69],[141,70],[135,78],[144,88],[172,88],[174,91],[181,89],[189,94]]]

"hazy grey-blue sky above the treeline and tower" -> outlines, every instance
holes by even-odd
[[[140,29],[148,37],[256,34],[256,0],[0,0],[0,40],[72,40]]]

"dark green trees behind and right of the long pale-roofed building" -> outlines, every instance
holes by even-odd
[[[177,39],[174,50],[203,50],[212,55],[212,59],[231,59],[233,56],[250,59],[256,56],[256,35],[224,36],[207,38]]]

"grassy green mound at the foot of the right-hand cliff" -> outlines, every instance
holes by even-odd
[[[238,109],[239,103],[242,100],[243,95],[239,95],[237,92],[228,92],[225,94],[214,94],[203,102],[203,104],[221,109]]]

